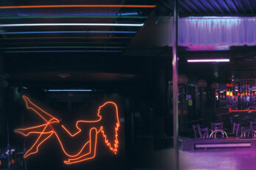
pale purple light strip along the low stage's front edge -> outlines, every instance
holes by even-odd
[[[196,148],[215,148],[215,147],[251,147],[251,143],[236,144],[195,144]]]

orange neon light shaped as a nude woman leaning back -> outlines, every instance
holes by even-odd
[[[35,103],[32,103],[31,100],[29,100],[28,97],[22,96],[25,103],[26,103],[26,108],[31,109],[34,111],[36,114],[38,114],[39,117],[43,119],[44,122],[46,122],[43,125],[37,125],[34,127],[27,127],[27,128],[19,128],[15,129],[15,133],[20,133],[23,136],[29,136],[30,134],[38,134],[38,138],[35,141],[34,144],[32,144],[32,147],[30,147],[25,155],[24,158],[27,158],[29,155],[33,155],[38,152],[38,148],[40,147],[41,144],[43,144],[44,141],[46,141],[48,138],[51,136],[55,136],[57,140],[59,141],[60,147],[62,148],[63,152],[65,155],[68,157],[68,160],[64,160],[65,164],[72,164],[72,163],[79,163],[85,160],[93,159],[96,156],[96,148],[97,148],[97,138],[100,133],[102,133],[102,136],[104,138],[104,142],[109,147],[109,149],[116,154],[118,152],[118,128],[120,126],[119,124],[119,118],[118,118],[118,107],[114,102],[108,101],[104,103],[102,106],[99,106],[97,116],[99,117],[98,119],[95,120],[78,120],[76,123],[77,127],[77,132],[72,134],[64,125],[61,125],[65,133],[68,133],[71,138],[75,138],[81,131],[82,129],[79,127],[79,123],[90,123],[90,124],[95,124],[101,122],[102,115],[100,115],[100,111],[104,106],[106,105],[113,105],[115,107],[115,126],[114,126],[114,144],[111,144],[110,141],[107,138],[107,134],[104,132],[104,126],[101,125],[100,127],[90,127],[89,130],[89,141],[86,141],[85,144],[83,144],[82,148],[79,149],[79,152],[77,153],[68,153],[63,145],[63,141],[61,141],[60,136],[58,135],[57,131],[54,130],[53,125],[59,125],[60,120],[57,119],[56,117],[53,117],[51,114],[48,112],[44,111],[42,108],[38,107],[35,105]],[[89,152],[84,152],[85,147],[89,146]]]

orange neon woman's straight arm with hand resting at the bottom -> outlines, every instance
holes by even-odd
[[[96,156],[96,146],[97,146],[97,135],[98,132],[96,130],[96,128],[91,128],[90,129],[90,150],[87,153],[84,154],[80,154],[77,156],[77,158],[71,158],[68,160],[65,160],[64,163],[66,164],[72,164],[72,163],[79,163],[82,162],[84,160],[89,160],[89,159],[93,159]]]

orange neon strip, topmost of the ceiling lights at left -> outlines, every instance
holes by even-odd
[[[15,8],[59,8],[59,7],[131,7],[131,8],[154,8],[156,5],[127,5],[127,4],[63,4],[63,5],[24,5],[24,6],[5,6],[0,9]]]

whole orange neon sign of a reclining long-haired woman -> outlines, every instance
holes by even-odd
[[[32,147],[24,154],[24,158],[36,154],[40,145],[50,137],[57,138],[60,147],[68,158],[64,160],[65,164],[79,163],[95,158],[99,136],[104,138],[104,143],[113,153],[116,154],[116,152],[118,152],[118,128],[120,124],[118,119],[118,107],[115,103],[108,101],[102,106],[99,106],[96,119],[78,120],[76,123],[77,131],[71,133],[70,130],[62,124],[61,119],[57,119],[42,108],[36,106],[35,103],[29,100],[29,97],[25,95],[22,97],[26,103],[26,108],[38,114],[44,122],[42,125],[14,130],[15,133],[21,133],[23,136],[29,136],[31,134],[38,136],[35,143],[32,144]],[[107,111],[107,108],[112,109],[112,111]],[[87,128],[82,128],[85,126]],[[69,150],[68,142],[65,142],[65,139],[70,138],[72,141],[76,141],[77,138],[81,137],[84,142],[81,146],[75,144],[75,147],[77,147],[76,152]]]

